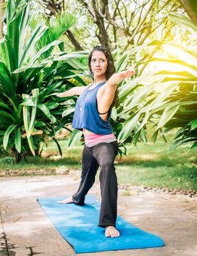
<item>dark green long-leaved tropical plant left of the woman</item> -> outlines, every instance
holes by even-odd
[[[52,54],[56,46],[63,50],[57,39],[76,22],[66,12],[50,26],[37,20],[31,31],[29,1],[10,0],[6,21],[7,34],[0,41],[0,138],[20,160],[21,154],[37,154],[40,141],[55,140],[55,132],[70,122],[74,98],[65,101],[55,94],[85,84],[77,75],[83,70],[77,58],[87,54]]]

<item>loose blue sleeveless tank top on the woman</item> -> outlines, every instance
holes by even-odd
[[[74,118],[72,121],[72,128],[74,129],[88,129],[88,131],[96,133],[97,135],[108,135],[112,133],[112,126],[110,124],[111,110],[109,108],[107,121],[104,121],[97,110],[96,95],[98,90],[104,83],[99,83],[94,89],[88,86],[77,99],[74,110]]]

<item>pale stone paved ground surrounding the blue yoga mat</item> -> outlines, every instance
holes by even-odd
[[[0,255],[75,255],[36,202],[39,197],[70,195],[78,181],[68,176],[0,178]],[[99,198],[99,184],[90,194]],[[82,254],[87,256],[196,256],[197,200],[186,196],[119,190],[118,214],[161,236],[165,246]]]

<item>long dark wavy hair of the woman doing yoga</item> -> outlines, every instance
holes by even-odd
[[[112,53],[110,53],[109,50],[107,50],[107,48],[105,46],[96,45],[93,48],[93,50],[90,52],[90,54],[88,56],[88,66],[90,68],[90,72],[91,72],[92,75],[93,75],[93,71],[91,69],[90,63],[91,63],[91,59],[92,59],[92,56],[93,56],[93,52],[96,51],[96,50],[101,51],[106,56],[106,59],[107,59],[106,78],[108,80],[115,73],[115,64],[114,64],[114,60],[113,60],[113,57],[112,57]],[[114,97],[114,100],[112,102],[112,106],[117,106],[117,102],[118,102],[118,98],[117,98],[117,90],[116,90],[115,91],[115,97]]]

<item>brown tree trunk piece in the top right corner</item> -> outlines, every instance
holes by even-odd
[[[197,3],[193,0],[179,0],[182,8],[187,12],[188,16],[197,25]]]

